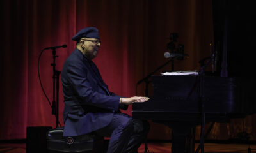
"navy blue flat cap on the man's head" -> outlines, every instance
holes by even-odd
[[[86,27],[81,29],[75,36],[72,37],[72,40],[79,41],[81,38],[97,38],[100,39],[99,30],[96,27]]]

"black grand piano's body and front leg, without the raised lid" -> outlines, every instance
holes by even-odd
[[[172,128],[172,150],[184,152],[186,135],[201,124],[201,103],[204,103],[205,123],[228,122],[231,117],[250,113],[246,108],[250,106],[242,102],[246,96],[244,84],[238,77],[205,76],[200,86],[198,75],[152,76],[153,95],[146,103],[132,105],[132,116]]]

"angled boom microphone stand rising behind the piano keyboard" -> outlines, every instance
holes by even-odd
[[[146,84],[146,87],[145,87],[145,96],[147,97],[148,96],[148,84],[149,84],[149,78],[154,75],[154,73],[156,73],[156,71],[158,71],[159,69],[163,68],[164,66],[166,66],[167,64],[169,64],[169,62],[172,62],[172,71],[173,71],[173,61],[174,61],[174,57],[171,57],[171,59],[167,62],[165,62],[163,65],[159,66],[155,71],[152,71],[151,73],[149,73],[146,77],[142,78],[141,80],[139,80],[137,82],[137,85],[138,84],[141,84],[141,82],[145,82]],[[145,150],[144,152],[147,153],[147,150],[148,150],[148,145],[147,145],[147,139],[145,140]]]

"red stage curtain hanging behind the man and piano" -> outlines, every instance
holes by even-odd
[[[27,126],[56,126],[51,107],[37,75],[37,60],[45,47],[67,44],[56,50],[56,69],[74,50],[72,36],[88,26],[100,31],[102,45],[94,60],[109,89],[122,96],[136,94],[136,82],[164,59],[170,33],[178,33],[189,58],[175,61],[175,71],[198,70],[198,61],[210,55],[213,41],[211,1],[176,0],[12,0],[1,1],[1,108],[0,140],[26,138]],[[40,77],[52,101],[52,52],[40,60]],[[170,71],[170,64],[161,71]],[[161,72],[159,71],[159,72]],[[159,74],[159,72],[157,72]],[[156,74],[157,74],[156,73]],[[138,95],[144,94],[138,85]],[[63,125],[63,95],[60,84],[60,123]],[[131,115],[131,106],[126,113]],[[227,139],[248,124],[250,116],[231,124],[215,124],[209,136]],[[254,126],[253,126],[254,125]],[[149,138],[169,139],[170,129],[152,123]],[[225,133],[225,135],[223,135]],[[198,134],[197,134],[198,135]]]

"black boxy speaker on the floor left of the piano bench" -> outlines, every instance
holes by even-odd
[[[28,126],[26,138],[26,153],[46,153],[47,131],[52,129],[51,126]]]

